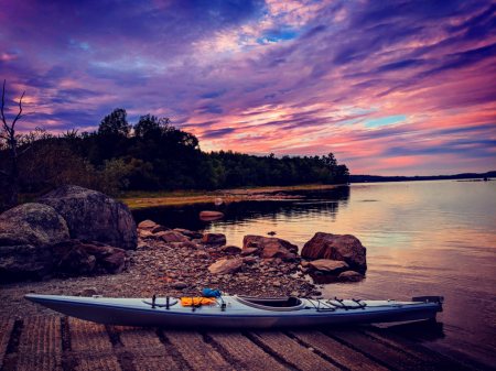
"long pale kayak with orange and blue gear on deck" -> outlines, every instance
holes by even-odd
[[[312,299],[298,297],[219,296],[202,298],[114,298],[35,295],[25,296],[67,316],[117,326],[274,328],[435,318],[442,296],[413,297],[411,302]],[[185,303],[185,301],[183,301]],[[197,303],[197,305],[195,305]]]

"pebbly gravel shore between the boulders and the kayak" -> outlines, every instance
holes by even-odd
[[[218,259],[234,258],[218,244],[164,243],[139,240],[138,249],[127,251],[126,269],[118,274],[68,276],[61,273],[40,282],[0,285],[0,317],[33,315],[62,316],[24,298],[30,293],[47,295],[93,295],[107,297],[201,296],[204,287],[252,296],[320,295],[319,287],[299,273],[300,258],[293,262],[254,257],[234,274],[208,271]]]

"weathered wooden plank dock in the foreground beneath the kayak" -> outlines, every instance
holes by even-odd
[[[472,370],[374,326],[195,330],[0,318],[0,370]]]

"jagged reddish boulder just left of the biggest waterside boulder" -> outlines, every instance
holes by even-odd
[[[298,245],[280,238],[248,234],[242,239],[241,251],[245,254],[258,252],[263,259],[281,258],[287,261],[294,258],[293,253],[298,252]]]

